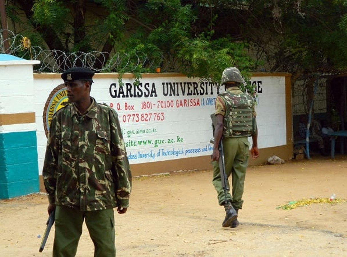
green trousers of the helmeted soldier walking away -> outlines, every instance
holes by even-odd
[[[242,209],[242,195],[245,184],[246,168],[248,165],[249,142],[247,137],[223,139],[223,150],[225,160],[225,173],[227,178],[231,174],[232,195],[227,191],[225,199],[218,161],[212,161],[213,179],[212,184],[218,193],[218,203],[223,205],[229,200],[235,209]],[[229,186],[229,180],[227,180]]]

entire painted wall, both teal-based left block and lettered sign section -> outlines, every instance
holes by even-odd
[[[60,74],[32,73],[31,61],[0,62],[0,196],[40,189],[51,115],[67,101]],[[13,65],[12,65],[13,64]],[[133,176],[210,169],[210,114],[218,91],[214,85],[178,73],[97,73],[91,95],[118,113]],[[288,73],[254,73],[258,165],[277,155],[293,157],[291,87]],[[251,138],[249,138],[252,141]]]

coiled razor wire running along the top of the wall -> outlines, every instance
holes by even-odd
[[[7,39],[3,38],[3,32],[7,32]],[[40,64],[33,67],[35,72],[63,72],[75,66],[87,67],[96,72],[133,72],[136,67],[154,69],[158,63],[158,60],[150,60],[141,51],[137,51],[133,56],[127,53],[111,55],[98,51],[85,53],[45,50],[41,46],[32,46],[29,38],[5,29],[0,29],[0,53],[40,61]],[[175,63],[170,54],[162,54],[159,63],[161,71],[175,71]]]

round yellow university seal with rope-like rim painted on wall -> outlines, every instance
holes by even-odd
[[[68,103],[66,86],[64,84],[60,84],[49,94],[43,108],[43,126],[46,137],[48,137],[49,125],[51,124],[53,114]]]

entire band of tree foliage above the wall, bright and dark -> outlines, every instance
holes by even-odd
[[[112,70],[120,73],[138,76],[158,66],[218,82],[230,66],[245,77],[250,71],[298,77],[346,68],[346,0],[7,2],[15,7],[9,17],[17,23],[16,10],[23,10],[42,46],[127,54],[130,62],[117,60],[129,62],[127,68]],[[139,54],[151,63],[138,63]]]

